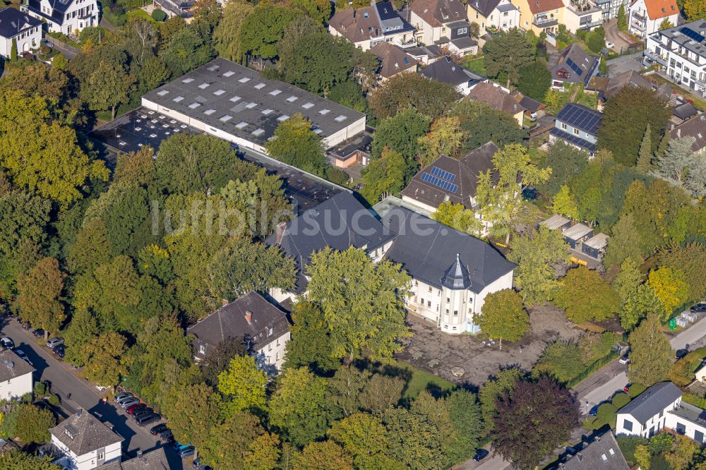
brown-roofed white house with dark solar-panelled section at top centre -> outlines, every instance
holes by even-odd
[[[417,44],[414,28],[397,14],[389,0],[337,10],[328,21],[328,32],[345,37],[364,51],[381,42],[403,47]]]

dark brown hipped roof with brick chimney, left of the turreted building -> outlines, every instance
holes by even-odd
[[[250,322],[246,318],[248,312],[251,314]],[[270,328],[273,329],[272,335],[268,335]],[[208,354],[210,348],[216,347],[225,339],[247,338],[253,349],[257,349],[287,331],[287,315],[255,291],[222,306],[186,330],[190,335],[196,336],[193,343],[197,356],[205,356],[198,352],[199,344],[206,347]]]

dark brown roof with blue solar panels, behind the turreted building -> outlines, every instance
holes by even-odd
[[[478,176],[484,171],[493,169],[493,155],[496,152],[498,152],[498,146],[489,142],[461,159],[441,155],[412,178],[407,188],[402,190],[402,195],[431,207],[438,207],[448,197],[452,203],[463,204],[467,209],[470,209],[472,207],[471,198],[476,195]],[[456,191],[451,191],[453,186],[443,188],[432,182],[436,180],[424,176],[424,174],[436,176],[434,173],[438,173],[438,170],[434,170],[434,168],[455,175],[451,183],[457,186]],[[497,176],[497,174],[493,174],[495,181],[497,181]]]

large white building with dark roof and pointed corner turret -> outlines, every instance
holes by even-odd
[[[450,335],[479,332],[486,296],[512,288],[515,265],[489,243],[407,207],[394,207],[383,222],[397,234],[385,258],[412,277],[407,309]]]

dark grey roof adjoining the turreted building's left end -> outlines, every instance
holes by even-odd
[[[304,211],[288,222],[283,231],[275,230],[265,243],[279,245],[286,255],[294,258],[298,271],[296,291],[302,294],[308,284],[304,267],[309,265],[315,251],[327,246],[337,251],[345,251],[349,246],[372,251],[392,238],[393,234],[351,193],[342,191]]]

